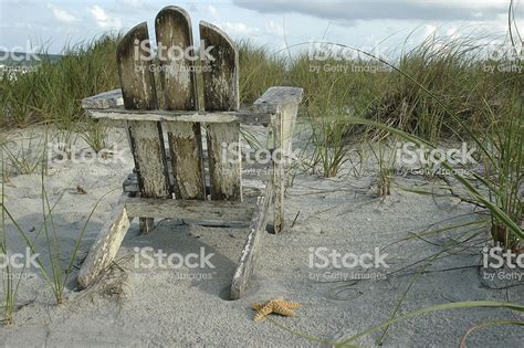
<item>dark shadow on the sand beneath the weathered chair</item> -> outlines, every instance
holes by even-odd
[[[149,256],[163,253],[165,267],[155,262],[150,270],[144,270],[140,261],[139,272],[171,272],[172,276],[181,277],[181,283],[190,281],[191,287],[229,300],[231,281],[247,234],[248,226],[202,226],[165,219],[155,221],[155,229],[147,235],[139,234],[138,226],[133,225],[123,247],[139,260],[146,260],[144,255],[148,255],[147,265]],[[149,249],[145,251],[145,247]],[[182,262],[188,256],[189,260]],[[169,257],[172,257],[170,263]]]

